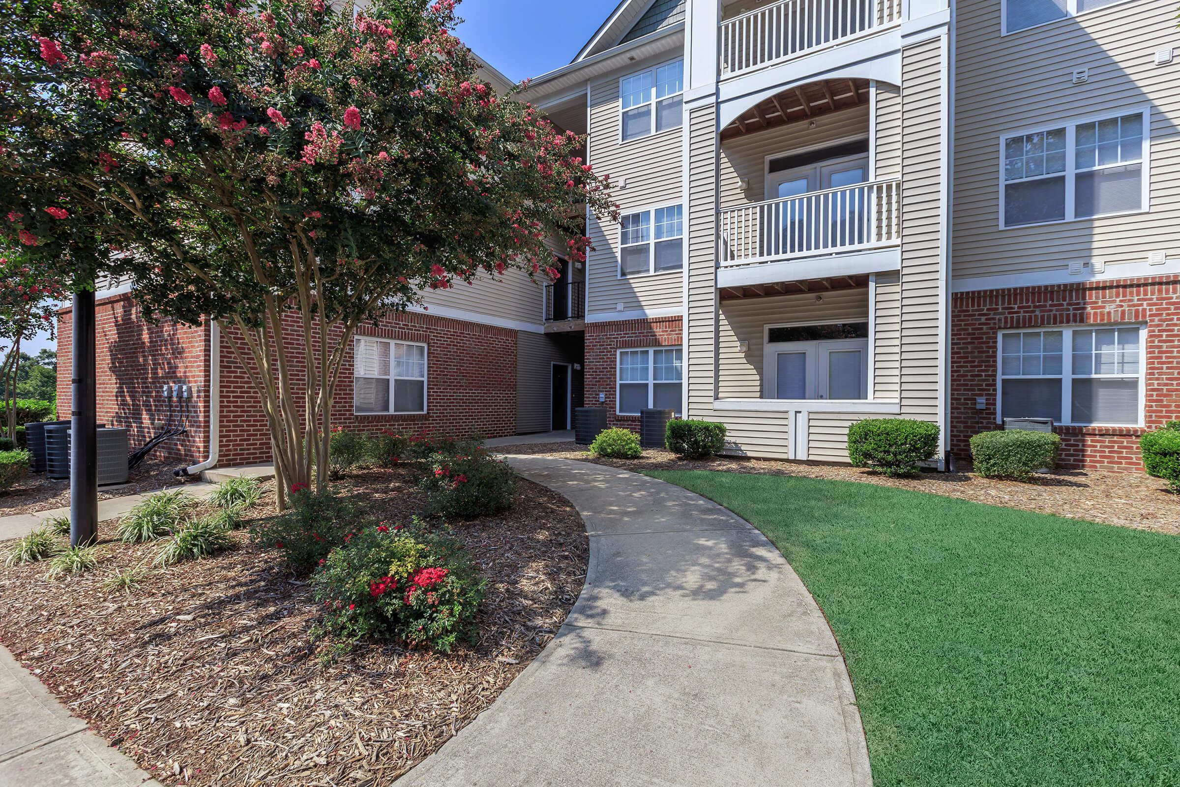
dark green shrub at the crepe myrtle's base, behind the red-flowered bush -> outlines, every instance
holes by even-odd
[[[250,525],[250,538],[283,551],[287,568],[308,575],[334,547],[372,524],[356,498],[341,497],[332,490],[315,494],[310,490],[291,492],[291,507]]]

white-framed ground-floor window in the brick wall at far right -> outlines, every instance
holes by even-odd
[[[1143,330],[1123,326],[1001,334],[1001,422],[1142,424]]]

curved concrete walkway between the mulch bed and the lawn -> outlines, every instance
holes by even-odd
[[[872,783],[827,622],[758,530],[645,476],[509,459],[585,520],[585,589],[500,699],[399,783]]]

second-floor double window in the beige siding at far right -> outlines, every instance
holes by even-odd
[[[1147,111],[1004,137],[999,225],[1145,210]]]

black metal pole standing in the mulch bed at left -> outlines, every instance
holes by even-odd
[[[94,291],[74,293],[70,398],[70,545],[98,539],[98,433]]]

